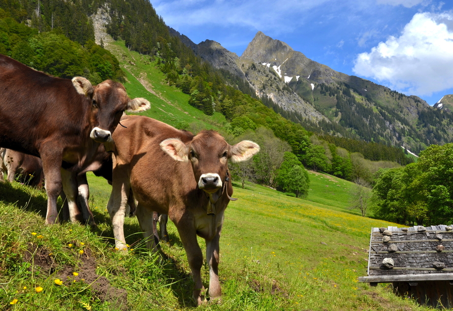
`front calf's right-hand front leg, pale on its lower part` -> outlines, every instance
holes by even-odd
[[[220,232],[218,232],[212,240],[206,240],[206,261],[209,266],[209,298],[211,301],[216,302],[220,302],[222,296],[218,276],[219,240]]]

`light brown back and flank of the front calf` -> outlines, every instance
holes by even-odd
[[[172,200],[193,201],[197,182],[190,163],[173,160],[159,146],[167,138],[188,143],[193,134],[145,116],[129,116],[121,124],[127,128],[117,127],[113,133],[116,165],[130,168],[131,185],[139,202],[168,214]]]

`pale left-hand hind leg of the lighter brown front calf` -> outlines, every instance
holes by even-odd
[[[125,175],[127,176],[127,174]],[[131,188],[130,183],[121,178],[115,178],[113,174],[112,193],[110,194],[107,210],[112,220],[113,236],[115,237],[115,248],[127,250],[126,239],[124,237],[124,216],[126,212],[127,195]]]

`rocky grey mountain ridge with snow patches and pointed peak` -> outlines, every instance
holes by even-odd
[[[274,110],[315,132],[391,143],[415,152],[453,141],[448,109],[438,113],[437,107],[416,96],[337,72],[262,32],[241,56],[215,41],[195,44],[184,39],[213,67],[244,79],[256,96],[272,100]]]

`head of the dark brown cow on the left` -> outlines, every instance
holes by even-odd
[[[119,123],[122,113],[149,109],[150,104],[143,98],[131,100],[126,89],[119,82],[106,80],[96,86],[83,77],[72,79],[77,92],[91,100],[91,122],[94,126],[90,138],[99,143],[112,143],[112,133]]]

